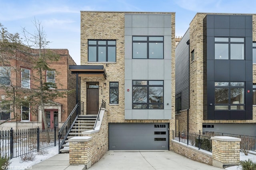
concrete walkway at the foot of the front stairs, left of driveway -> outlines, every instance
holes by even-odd
[[[71,166],[69,154],[56,154],[32,166],[32,170],[85,170],[85,166]]]

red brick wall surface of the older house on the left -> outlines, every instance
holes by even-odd
[[[33,53],[38,53],[38,49],[33,49]],[[58,54],[60,56],[59,61],[49,62],[49,68],[54,68],[56,70],[56,85],[57,89],[60,92],[67,92],[68,90],[72,90],[76,88],[76,76],[72,75],[69,70],[69,65],[76,65],[74,60],[70,57],[67,49],[50,49],[50,51]],[[21,86],[21,68],[26,68],[30,70],[30,82],[32,90],[37,90],[38,82],[36,81],[36,77],[38,77],[37,72],[33,69],[34,60],[33,56],[23,51],[16,50],[14,51],[16,56],[15,59],[9,59],[10,65],[14,68],[17,68],[16,74],[12,70],[11,79],[14,80],[12,83],[15,84],[18,88]],[[43,72],[43,76],[45,76],[46,71]],[[46,81],[46,80],[45,80]],[[4,92],[2,91],[2,94]],[[26,94],[22,94],[26,96]],[[56,99],[53,102],[56,102],[61,105],[61,109],[59,110],[59,116],[61,116],[61,120],[59,120],[59,126],[61,126],[61,122],[66,121],[69,113],[72,111],[74,106],[76,105],[76,93],[73,91],[72,93],[68,93],[65,98]],[[27,128],[36,128],[42,127],[42,119],[41,116],[38,116],[38,111],[33,111],[38,109],[38,106],[31,106],[30,108],[30,121],[20,121],[20,117],[17,117],[16,120],[8,121],[4,123],[4,129],[27,129]],[[17,113],[20,113],[20,109],[18,109]],[[11,117],[13,116],[13,113]]]

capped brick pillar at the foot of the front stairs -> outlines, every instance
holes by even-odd
[[[91,163],[90,143],[92,137],[77,136],[68,139],[69,142],[69,164],[85,165],[89,168]]]

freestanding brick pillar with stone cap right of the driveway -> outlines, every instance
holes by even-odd
[[[211,137],[212,139],[212,165],[225,168],[238,164],[240,160],[240,138]]]

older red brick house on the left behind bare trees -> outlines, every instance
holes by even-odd
[[[14,86],[20,91],[26,90],[27,93],[31,91],[38,90],[38,79],[36,69],[34,68],[34,61],[36,61],[36,55],[38,49],[33,49],[35,52],[32,54],[15,50],[13,56],[9,56],[8,65],[0,65],[0,84],[1,86],[10,87]],[[49,68],[54,68],[55,70],[44,70],[45,82],[56,83],[57,88],[60,92],[67,92],[76,88],[76,76],[71,74],[69,70],[69,65],[75,65],[76,63],[70,57],[67,49],[49,49],[53,53],[60,56],[59,61],[49,62]],[[10,72],[7,73],[7,70]],[[10,76],[8,76],[10,75]],[[1,98],[4,100],[6,98],[6,91],[1,88]],[[26,98],[28,95],[26,93],[20,93],[22,97]],[[58,98],[53,101],[49,101],[44,105],[44,111],[46,114],[46,122],[48,127],[59,126],[61,127],[63,122],[66,121],[69,113],[72,111],[76,105],[76,95],[75,93],[68,93],[65,98]],[[34,107],[37,107],[37,111],[34,111]],[[14,120],[8,121],[1,125],[1,129],[9,130],[11,127],[13,129],[33,129],[37,127],[43,127],[42,123],[42,112],[38,106],[31,106],[30,104],[16,108],[17,113],[19,113]],[[39,110],[39,111],[38,111]],[[1,108],[0,119],[4,121],[9,118],[13,118],[14,114],[12,112],[11,106],[5,106]]]

